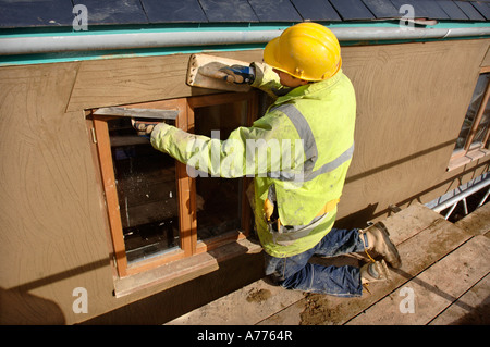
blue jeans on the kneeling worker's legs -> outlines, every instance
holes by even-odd
[[[365,237],[367,245],[367,239]],[[356,267],[323,267],[309,263],[313,256],[336,257],[364,251],[359,230],[332,228],[314,248],[287,258],[266,253],[266,275],[287,288],[340,297],[363,294],[360,270]]]

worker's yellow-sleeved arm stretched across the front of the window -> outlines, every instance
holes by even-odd
[[[252,127],[238,127],[229,138],[220,140],[194,135],[161,123],[151,133],[151,145],[180,162],[226,178],[267,175],[291,171],[303,164],[303,146],[297,139],[281,138],[278,122],[280,112],[268,113]],[[284,116],[282,114],[282,116]],[[293,126],[293,125],[292,125]]]

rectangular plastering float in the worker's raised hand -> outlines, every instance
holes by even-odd
[[[236,85],[225,80],[226,74],[220,69],[231,65],[246,65],[240,60],[215,57],[209,54],[192,54],[187,67],[187,85],[209,89],[246,92],[248,85]]]

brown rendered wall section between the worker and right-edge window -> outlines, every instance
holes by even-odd
[[[464,171],[448,174],[445,168],[488,45],[468,40],[343,50],[344,72],[356,89],[357,123],[339,218],[363,209],[380,213]],[[424,202],[444,189],[425,195]]]

